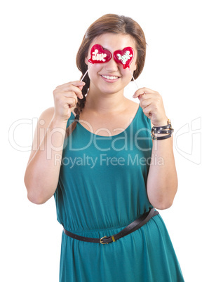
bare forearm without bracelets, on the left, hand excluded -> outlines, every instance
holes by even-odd
[[[28,199],[45,203],[58,184],[66,123],[52,119],[25,172]]]

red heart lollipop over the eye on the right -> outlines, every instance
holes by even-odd
[[[130,69],[130,64],[133,61],[134,51],[131,47],[126,47],[123,50],[117,50],[114,52],[114,60],[120,62],[123,65],[123,69],[128,67]]]

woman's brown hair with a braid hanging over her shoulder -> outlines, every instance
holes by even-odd
[[[88,66],[85,63],[85,58],[88,55],[90,43],[93,41],[93,39],[95,39],[95,37],[100,36],[104,33],[129,34],[133,37],[133,39],[135,40],[135,46],[137,48],[137,69],[134,71],[133,77],[134,79],[137,79],[144,67],[146,56],[146,40],[144,32],[140,25],[132,18],[115,14],[103,15],[101,18],[97,19],[95,22],[93,22],[92,25],[90,25],[90,27],[88,27],[86,34],[83,36],[83,41],[76,55],[76,65],[82,72],[82,76],[88,69]],[[85,95],[90,86],[90,79],[88,74],[86,74],[83,81],[86,83],[86,85],[83,86],[82,89],[83,99],[78,98],[78,102],[74,109],[74,112],[76,114],[76,117],[74,119],[75,121],[67,128],[67,136],[69,136],[76,127],[76,123],[77,121],[79,121],[79,114],[82,112],[85,106]]]

